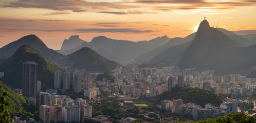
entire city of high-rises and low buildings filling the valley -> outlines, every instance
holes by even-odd
[[[101,104],[102,100],[109,99],[117,99],[118,105],[123,110],[138,107],[143,111],[143,117],[153,118],[152,114],[160,117],[159,112],[144,110],[145,107],[152,104],[147,99],[140,98],[150,99],[164,92],[186,87],[205,89],[220,94],[224,101],[219,106],[213,106],[210,103],[205,106],[191,102],[184,104],[182,99],[161,99],[160,103],[156,104],[157,108],[170,114],[190,116],[192,120],[198,121],[226,115],[230,112],[241,112],[238,103],[240,101],[248,103],[248,100],[241,99],[246,99],[256,93],[256,78],[246,78],[240,74],[215,75],[214,70],[197,71],[195,68],[180,70],[175,66],[163,67],[163,69],[138,68],[131,62],[126,62],[122,66],[117,66],[112,71],[113,74],[84,70],[72,72],[56,70],[54,72],[55,89],[46,89],[46,92],[43,92],[41,91],[41,81],[37,79],[38,64],[27,61],[23,63],[23,88],[13,90],[29,98],[39,109],[41,121],[28,118],[29,122],[112,122],[109,121],[107,115],[95,113],[97,109],[90,105],[92,103]],[[4,77],[3,72],[1,72],[1,77]],[[73,97],[72,99],[70,98],[72,94],[80,95],[82,98]],[[237,100],[239,98],[241,99]],[[116,120],[131,122],[136,119],[123,116]],[[159,119],[160,122],[166,120],[168,121],[164,118]],[[12,118],[12,121],[24,122],[25,120]]]

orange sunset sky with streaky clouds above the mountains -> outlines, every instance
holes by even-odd
[[[1,0],[0,48],[29,34],[54,50],[71,35],[87,42],[100,35],[133,42],[185,37],[204,17],[211,27],[256,34],[252,0]]]

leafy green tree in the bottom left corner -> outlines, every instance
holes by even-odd
[[[9,101],[6,100],[7,91],[0,97],[0,122],[10,122],[12,112],[8,110]]]

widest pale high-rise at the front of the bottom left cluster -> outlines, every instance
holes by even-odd
[[[62,108],[62,119],[64,122],[80,122],[81,108],[78,106],[70,106]]]

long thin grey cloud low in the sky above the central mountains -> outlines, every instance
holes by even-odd
[[[118,28],[118,29],[101,29],[101,28],[89,28],[89,29],[75,29],[74,31],[78,32],[121,32],[121,33],[149,33],[153,32],[152,30],[138,30],[138,29],[130,29],[130,28]]]

